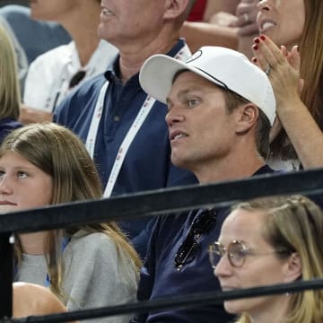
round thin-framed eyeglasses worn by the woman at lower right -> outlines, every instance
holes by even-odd
[[[275,252],[282,252],[287,254],[291,253],[291,251],[287,249],[278,249],[263,252],[252,250],[247,248],[240,240],[231,241],[227,248],[223,247],[223,244],[221,244],[219,241],[215,241],[209,246],[210,262],[213,268],[215,268],[220,258],[222,258],[225,255],[225,253],[227,253],[227,257],[231,266],[241,267],[244,265],[247,256],[270,255]]]

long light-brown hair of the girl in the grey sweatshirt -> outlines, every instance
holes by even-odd
[[[54,123],[32,124],[14,130],[0,146],[0,158],[7,152],[19,153],[28,162],[46,172],[52,178],[51,204],[99,199],[102,196],[100,178],[92,159],[81,140],[65,127]],[[68,230],[48,231],[44,250],[48,263],[50,289],[64,299],[62,290],[62,245],[65,236],[83,230],[88,233],[103,232],[114,240],[121,250],[131,258],[137,270],[141,266],[135,249],[117,223],[91,223],[68,228]],[[15,246],[17,266],[22,260],[19,239]]]

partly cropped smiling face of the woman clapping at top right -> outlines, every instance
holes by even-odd
[[[305,23],[304,0],[262,0],[257,18],[260,34],[277,46],[292,48],[300,42]]]

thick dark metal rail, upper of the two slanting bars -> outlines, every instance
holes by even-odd
[[[76,223],[124,220],[205,205],[228,206],[258,196],[322,194],[323,169],[266,174],[210,185],[192,185],[100,200],[53,205],[0,215],[0,233],[63,228]],[[73,205],[71,207],[71,205]]]

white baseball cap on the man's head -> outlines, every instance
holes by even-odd
[[[139,81],[144,92],[166,104],[175,74],[184,69],[256,104],[270,125],[274,124],[275,95],[267,75],[243,54],[229,48],[205,46],[186,62],[166,55],[153,55],[144,62]]]

